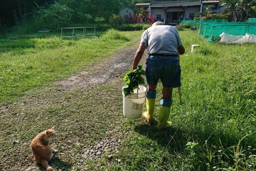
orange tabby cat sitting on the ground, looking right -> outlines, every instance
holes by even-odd
[[[55,137],[56,133],[54,131],[54,127],[52,127],[51,129],[38,134],[30,144],[36,162],[42,164],[47,171],[52,171],[52,167],[48,165],[48,162],[51,161],[54,153],[58,152],[48,145],[50,138]]]

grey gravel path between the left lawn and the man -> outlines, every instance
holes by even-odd
[[[56,85],[65,90],[72,90],[111,83],[123,77],[131,69],[133,57],[138,47],[136,45],[138,44],[139,42],[136,41],[133,43],[135,46],[126,47],[111,55],[110,58],[94,64],[91,70],[80,71],[66,80],[56,82]]]

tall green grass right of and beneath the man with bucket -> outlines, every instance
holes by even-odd
[[[182,31],[180,35],[186,53],[180,56],[181,106],[178,105],[177,89],[173,94],[170,120],[174,125],[169,131],[158,133],[157,122],[150,125],[131,120],[128,125],[132,135],[125,141],[123,152],[126,168],[249,170],[248,165],[252,164],[251,169],[254,170],[255,44],[205,43],[191,31]],[[192,44],[200,45],[194,53],[189,52]],[[161,92],[159,84],[158,105]],[[188,142],[198,144],[187,148]],[[254,150],[249,151],[249,145]]]

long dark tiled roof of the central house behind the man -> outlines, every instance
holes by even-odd
[[[172,1],[156,1],[150,3],[151,7],[173,7],[173,6],[191,6],[191,5],[201,5],[199,0],[172,0]]]

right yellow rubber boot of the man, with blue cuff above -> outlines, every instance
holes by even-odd
[[[157,130],[165,130],[172,126],[172,122],[167,121],[170,115],[171,107],[168,106],[160,106],[159,108],[159,116],[158,116],[158,124]]]

